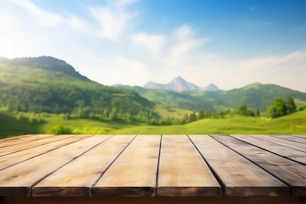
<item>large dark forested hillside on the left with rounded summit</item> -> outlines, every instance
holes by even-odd
[[[53,57],[0,58],[0,108],[129,118],[152,114],[153,103],[133,90],[92,82]]]

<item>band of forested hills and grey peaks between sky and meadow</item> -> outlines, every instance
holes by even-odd
[[[277,97],[291,95],[297,106],[306,103],[306,93],[278,85],[253,83],[239,89],[219,90],[213,84],[205,88],[176,77],[168,84],[149,82],[144,87],[104,86],[81,75],[63,60],[53,57],[0,58],[0,108],[35,113],[137,115],[154,113],[161,103],[198,111],[249,108],[265,112]]]

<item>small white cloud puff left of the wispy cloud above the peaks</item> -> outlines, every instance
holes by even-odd
[[[131,37],[131,41],[136,46],[145,47],[152,55],[152,58],[156,59],[160,50],[165,42],[165,37],[162,35],[150,35],[147,33],[137,33]]]

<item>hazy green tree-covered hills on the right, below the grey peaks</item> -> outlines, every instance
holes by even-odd
[[[166,91],[129,87],[150,101],[168,104],[189,110],[217,111],[227,108],[238,108],[246,103],[249,108],[265,112],[275,98],[287,100],[294,98],[298,106],[306,103],[306,93],[294,91],[278,85],[254,83],[240,89],[229,91]]]

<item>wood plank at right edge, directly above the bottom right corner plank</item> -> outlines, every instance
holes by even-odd
[[[306,153],[247,135],[230,135],[242,141],[306,165]]]

